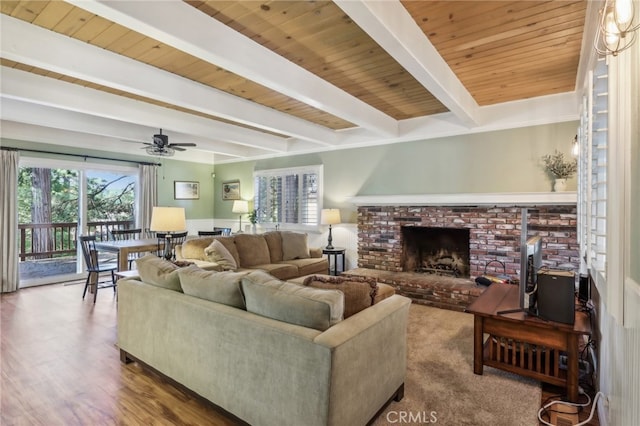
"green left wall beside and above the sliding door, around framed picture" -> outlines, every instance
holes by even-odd
[[[191,163],[186,161],[176,161],[167,158],[157,158],[148,155],[122,155],[119,153],[109,153],[98,150],[86,150],[59,145],[48,145],[35,142],[25,142],[10,139],[2,139],[0,145],[3,147],[14,147],[23,149],[34,149],[41,151],[53,151],[65,154],[90,155],[96,157],[107,157],[113,159],[126,159],[130,161],[140,161],[149,163],[160,163],[158,168],[158,205],[171,207],[184,207],[187,219],[210,219],[213,217],[213,185],[211,177],[213,165]],[[108,160],[98,160],[55,154],[41,154],[22,151],[20,157],[51,158],[56,160],[73,161],[82,164],[112,164],[128,165],[137,167],[136,163],[113,162]],[[176,180],[200,182],[199,200],[174,200],[173,182]]]

